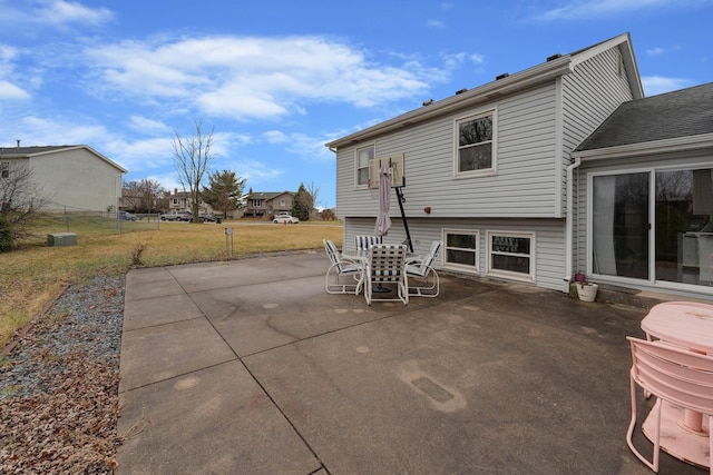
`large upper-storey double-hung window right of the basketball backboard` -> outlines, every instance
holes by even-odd
[[[492,175],[495,160],[495,110],[456,120],[453,175]]]

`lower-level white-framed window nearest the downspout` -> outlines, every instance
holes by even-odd
[[[535,234],[488,231],[487,274],[535,281]]]

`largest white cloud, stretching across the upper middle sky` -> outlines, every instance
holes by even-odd
[[[156,38],[90,47],[88,87],[141,101],[197,108],[238,120],[305,113],[310,102],[371,107],[414,97],[442,71],[409,60],[382,65],[364,51],[319,37]]]

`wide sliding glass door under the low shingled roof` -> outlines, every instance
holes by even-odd
[[[594,274],[713,286],[713,169],[602,175],[592,187]]]

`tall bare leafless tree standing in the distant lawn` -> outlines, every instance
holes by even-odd
[[[173,146],[178,180],[184,189],[188,189],[191,196],[193,222],[199,222],[201,181],[203,181],[203,177],[208,171],[211,161],[213,161],[213,156],[211,155],[213,129],[205,135],[203,132],[203,120],[196,120],[195,127],[196,132],[192,137],[180,137],[178,130],[175,130]]]

